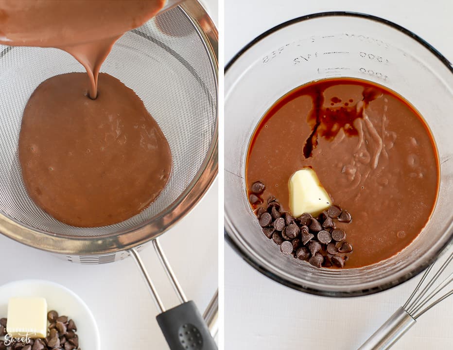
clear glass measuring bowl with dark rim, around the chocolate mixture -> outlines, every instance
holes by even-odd
[[[227,241],[264,275],[305,292],[347,297],[398,285],[433,262],[453,237],[453,68],[408,30],[363,14],[322,13],[283,23],[247,45],[225,75],[225,229]],[[247,200],[245,157],[266,110],[288,91],[328,77],[388,87],[425,118],[440,159],[436,208],[418,238],[383,262],[316,269],[280,254],[261,233]]]

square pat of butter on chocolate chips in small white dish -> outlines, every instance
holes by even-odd
[[[47,301],[42,297],[15,297],[8,302],[6,331],[13,337],[47,336]]]

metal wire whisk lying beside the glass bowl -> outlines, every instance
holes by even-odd
[[[390,349],[401,336],[406,333],[417,321],[418,317],[436,306],[439,302],[453,294],[453,288],[447,290],[447,286],[453,281],[453,273],[445,280],[432,288],[440,275],[453,260],[453,252],[437,270],[434,276],[428,280],[428,276],[436,263],[431,264],[418,282],[406,303],[400,307],[358,350],[385,350]],[[445,294],[441,295],[442,292]],[[439,297],[439,295],[441,295]]]

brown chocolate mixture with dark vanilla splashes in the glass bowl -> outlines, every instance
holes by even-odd
[[[354,249],[347,268],[397,254],[434,210],[438,158],[426,123],[401,96],[368,81],[313,82],[263,116],[247,154],[247,190],[260,180],[262,197],[289,210],[289,178],[307,166],[353,217],[337,225]]]

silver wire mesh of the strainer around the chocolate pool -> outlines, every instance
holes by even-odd
[[[157,200],[133,218],[108,227],[71,227],[40,210],[25,190],[18,161],[20,123],[30,95],[53,75],[78,71],[83,67],[63,51],[0,45],[0,213],[55,235],[102,236],[133,229],[171,205],[207,155],[217,110],[209,54],[190,19],[174,8],[123,35],[105,60],[101,71],[137,93],[173,155],[172,176]]]

